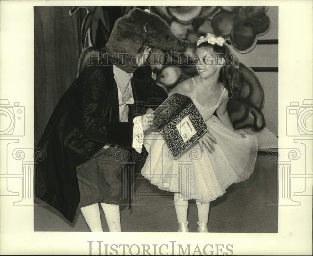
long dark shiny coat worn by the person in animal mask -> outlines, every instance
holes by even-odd
[[[129,121],[119,122],[113,66],[86,68],[60,99],[38,143],[47,157],[38,162],[35,171],[35,196],[71,222],[80,201],[76,167],[106,143],[131,148],[132,119],[143,114],[147,105],[156,107],[167,98],[164,89],[151,78],[149,66],[134,72],[131,85],[135,104],[129,108]],[[146,156],[142,159],[138,166],[143,165]]]

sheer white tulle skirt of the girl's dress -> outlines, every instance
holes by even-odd
[[[141,170],[142,175],[162,190],[179,192],[185,200],[202,203],[223,195],[231,184],[249,178],[257,155],[256,136],[242,138],[215,116],[206,123],[217,142],[212,153],[206,147],[202,152],[195,142],[173,158],[159,133],[146,136],[144,145],[149,156]]]

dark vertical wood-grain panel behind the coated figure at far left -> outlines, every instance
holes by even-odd
[[[34,7],[34,143],[76,77],[80,53],[77,13],[70,7]]]

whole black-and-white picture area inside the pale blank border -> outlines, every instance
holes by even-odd
[[[33,15],[34,231],[278,233],[277,6]]]

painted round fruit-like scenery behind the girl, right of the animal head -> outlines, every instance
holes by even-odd
[[[178,37],[188,40],[190,45],[185,55],[195,58],[196,43],[207,33],[228,39],[235,51],[247,53],[257,42],[258,36],[269,31],[270,19],[264,6],[154,6],[152,12],[160,15]],[[228,113],[236,129],[254,128],[260,131],[265,127],[262,113],[264,91],[254,72],[240,64],[242,93],[230,99]],[[177,83],[197,74],[194,66],[154,67],[157,83],[169,92]]]

